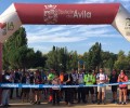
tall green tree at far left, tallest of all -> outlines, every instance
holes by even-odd
[[[10,65],[12,68],[21,68],[25,50],[27,50],[26,31],[21,27],[3,44],[3,67],[9,68]]]

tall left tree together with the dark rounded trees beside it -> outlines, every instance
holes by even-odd
[[[46,59],[40,51],[27,46],[25,28],[21,27],[3,44],[3,68],[44,67]]]

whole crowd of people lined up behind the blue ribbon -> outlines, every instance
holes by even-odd
[[[99,72],[93,70],[80,69],[77,71],[73,69],[70,73],[57,72],[51,69],[49,72],[36,70],[34,71],[21,71],[21,70],[5,70],[2,75],[2,83],[22,83],[22,84],[52,84],[52,85],[92,85],[99,84],[100,86],[80,86],[80,87],[51,87],[51,89],[10,89],[2,87],[2,105],[10,106],[9,99],[14,98],[14,92],[17,98],[22,99],[22,103],[30,103],[32,105],[40,105],[42,98],[48,99],[49,104],[60,105],[61,102],[65,102],[70,106],[75,103],[92,103],[92,104],[106,104],[106,86],[101,86],[105,83],[128,82],[128,76],[125,70],[120,70],[118,73],[113,70],[108,77],[103,68],[100,68]],[[14,91],[15,90],[15,91]],[[117,91],[119,90],[119,96]],[[119,84],[112,85],[114,104],[127,104],[129,97],[128,85]],[[43,96],[42,96],[43,94]],[[90,99],[89,99],[90,98]]]

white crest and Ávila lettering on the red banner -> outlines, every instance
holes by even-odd
[[[58,15],[65,15],[66,18],[91,18],[92,13],[86,10],[60,10],[57,5],[44,5],[43,19],[47,24],[57,23]]]

